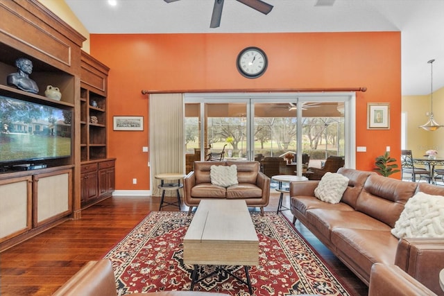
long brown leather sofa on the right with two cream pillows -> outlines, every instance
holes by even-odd
[[[319,181],[291,182],[293,223],[299,219],[364,283],[374,263],[395,264],[438,295],[444,268],[444,238],[402,238],[391,234],[404,204],[417,191],[444,195],[443,186],[402,182],[373,172],[339,168],[349,179],[341,202],[314,196]]]

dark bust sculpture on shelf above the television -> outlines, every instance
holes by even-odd
[[[8,75],[8,78],[6,78],[8,85],[14,85],[25,92],[37,94],[39,87],[37,87],[37,83],[34,80],[29,78],[31,73],[33,73],[33,62],[27,58],[18,58],[15,60],[15,66],[17,66],[18,71]]]

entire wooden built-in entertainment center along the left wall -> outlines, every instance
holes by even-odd
[[[0,252],[65,220],[114,191],[115,159],[107,155],[108,67],[81,51],[85,37],[36,0],[0,0],[0,96],[71,112],[71,155],[36,159],[37,169],[0,173]],[[33,62],[38,94],[6,82],[15,60]],[[44,96],[58,87],[60,101]],[[92,120],[93,119],[93,120]],[[1,121],[1,116],[0,116]],[[4,130],[3,130],[4,132]]]

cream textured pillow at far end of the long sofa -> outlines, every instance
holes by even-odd
[[[321,178],[318,186],[314,189],[314,196],[323,202],[337,204],[347,189],[348,177],[338,173],[327,172]]]

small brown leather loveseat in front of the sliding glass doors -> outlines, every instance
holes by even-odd
[[[228,188],[211,183],[211,166],[237,166],[239,184]],[[194,162],[191,171],[183,181],[184,202],[189,207],[199,205],[200,200],[210,198],[244,199],[248,207],[264,207],[270,200],[270,178],[259,172],[259,162],[226,161],[226,162]]]

